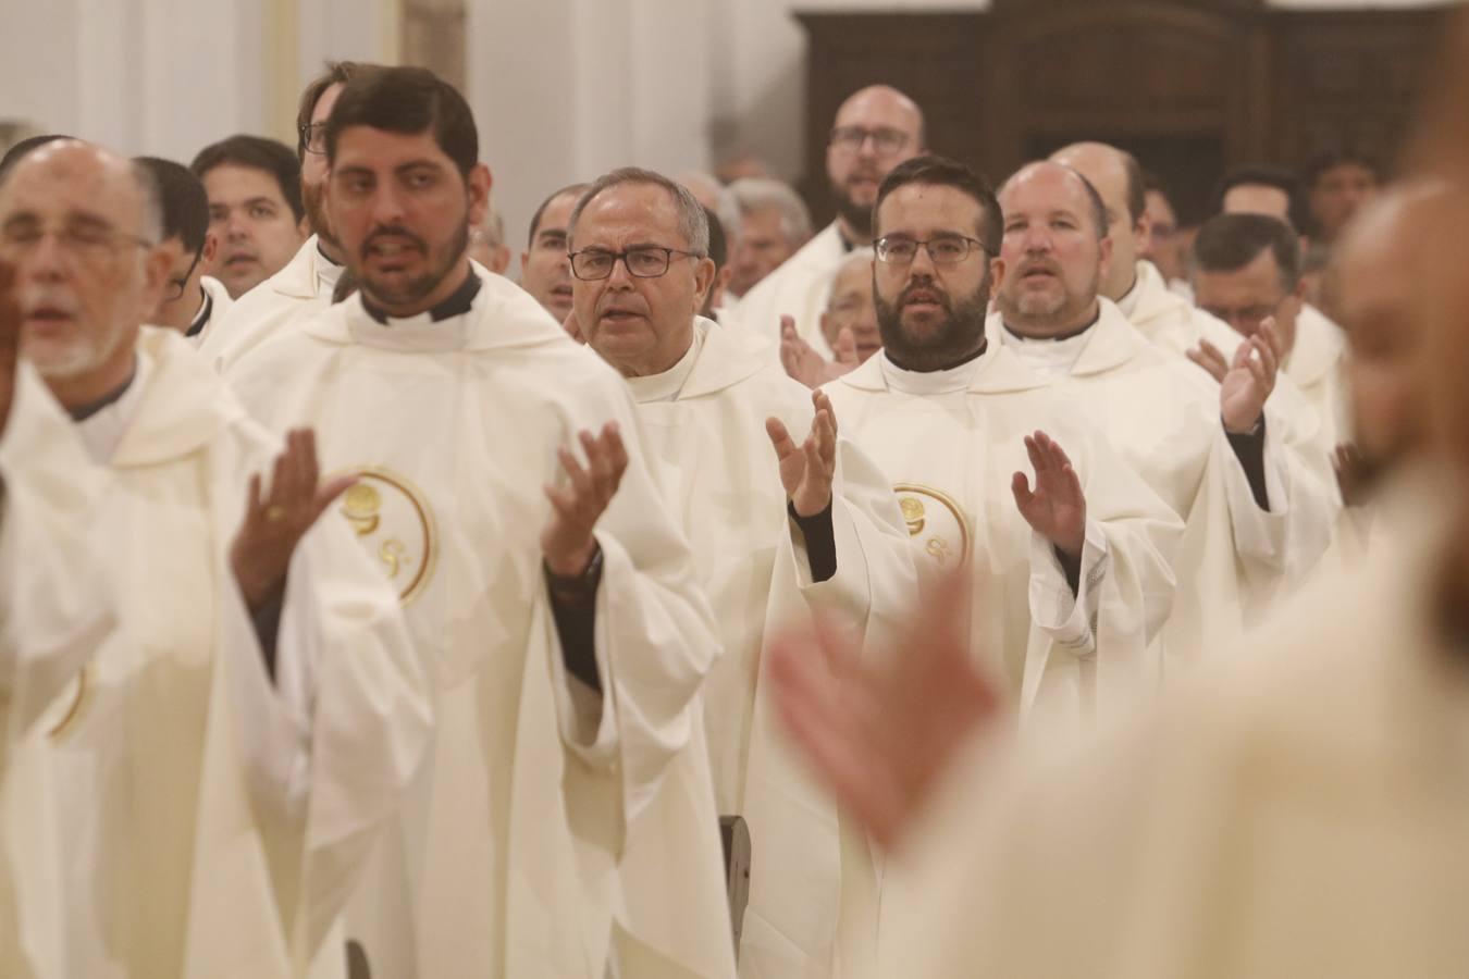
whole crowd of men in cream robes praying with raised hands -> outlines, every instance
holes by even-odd
[[[511,280],[451,85],[297,123],[0,164],[0,975],[1463,961],[1453,183],[873,85],[824,229],[621,167]]]

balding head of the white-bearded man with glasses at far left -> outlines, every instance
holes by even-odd
[[[22,349],[65,405],[104,398],[131,374],[138,324],[169,270],[160,233],[151,175],[101,147],[50,142],[0,183]]]

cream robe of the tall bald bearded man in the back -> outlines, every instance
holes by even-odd
[[[801,339],[821,357],[831,360],[831,348],[821,333],[821,314],[831,292],[831,279],[846,255],[837,223],[831,222],[802,245],[801,251],[757,282],[720,321],[730,323],[733,317],[733,323],[740,327],[773,341],[779,351],[780,317],[790,316],[796,320]]]

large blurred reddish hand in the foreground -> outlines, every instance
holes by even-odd
[[[892,847],[1000,697],[965,634],[970,578],[940,581],[903,630],[902,650],[862,656],[829,622],[777,637],[776,709],[840,806]],[[981,615],[974,609],[972,615]]]

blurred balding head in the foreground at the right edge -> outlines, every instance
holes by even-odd
[[[1422,443],[1423,269],[1437,251],[1425,233],[1459,194],[1441,182],[1409,183],[1368,205],[1338,242],[1329,269],[1337,319],[1351,357],[1346,370],[1357,443],[1388,464]]]

